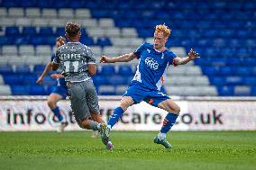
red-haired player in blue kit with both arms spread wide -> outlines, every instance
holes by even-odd
[[[162,123],[158,136],[153,141],[165,148],[172,148],[166,139],[166,134],[175,124],[180,108],[168,95],[160,92],[160,87],[170,65],[175,67],[185,65],[187,62],[199,58],[199,56],[194,49],[191,49],[186,58],[178,58],[165,47],[169,35],[170,30],[165,24],[156,25],[153,44],[143,43],[134,52],[116,58],[101,57],[100,62],[102,63],[128,62],[134,58],[140,59],[130,86],[123,94],[120,105],[114,109],[107,122],[108,130],[106,130],[106,133],[109,133],[129,106],[144,101],[169,112]]]

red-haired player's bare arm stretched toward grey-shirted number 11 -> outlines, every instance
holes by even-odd
[[[103,55],[100,58],[101,63],[116,63],[116,62],[129,62],[133,60],[136,56],[133,52],[129,54],[123,54],[122,56],[118,56],[116,58],[108,58],[107,56]]]

